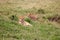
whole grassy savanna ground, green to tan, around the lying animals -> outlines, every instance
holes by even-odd
[[[18,24],[28,13],[39,14],[39,20]],[[60,16],[60,0],[0,0],[0,40],[60,40],[60,23],[48,20],[55,15]]]

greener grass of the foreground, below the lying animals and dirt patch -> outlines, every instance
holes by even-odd
[[[14,22],[0,20],[0,37],[4,40],[60,40],[60,28],[52,24],[35,22],[26,27]]]

